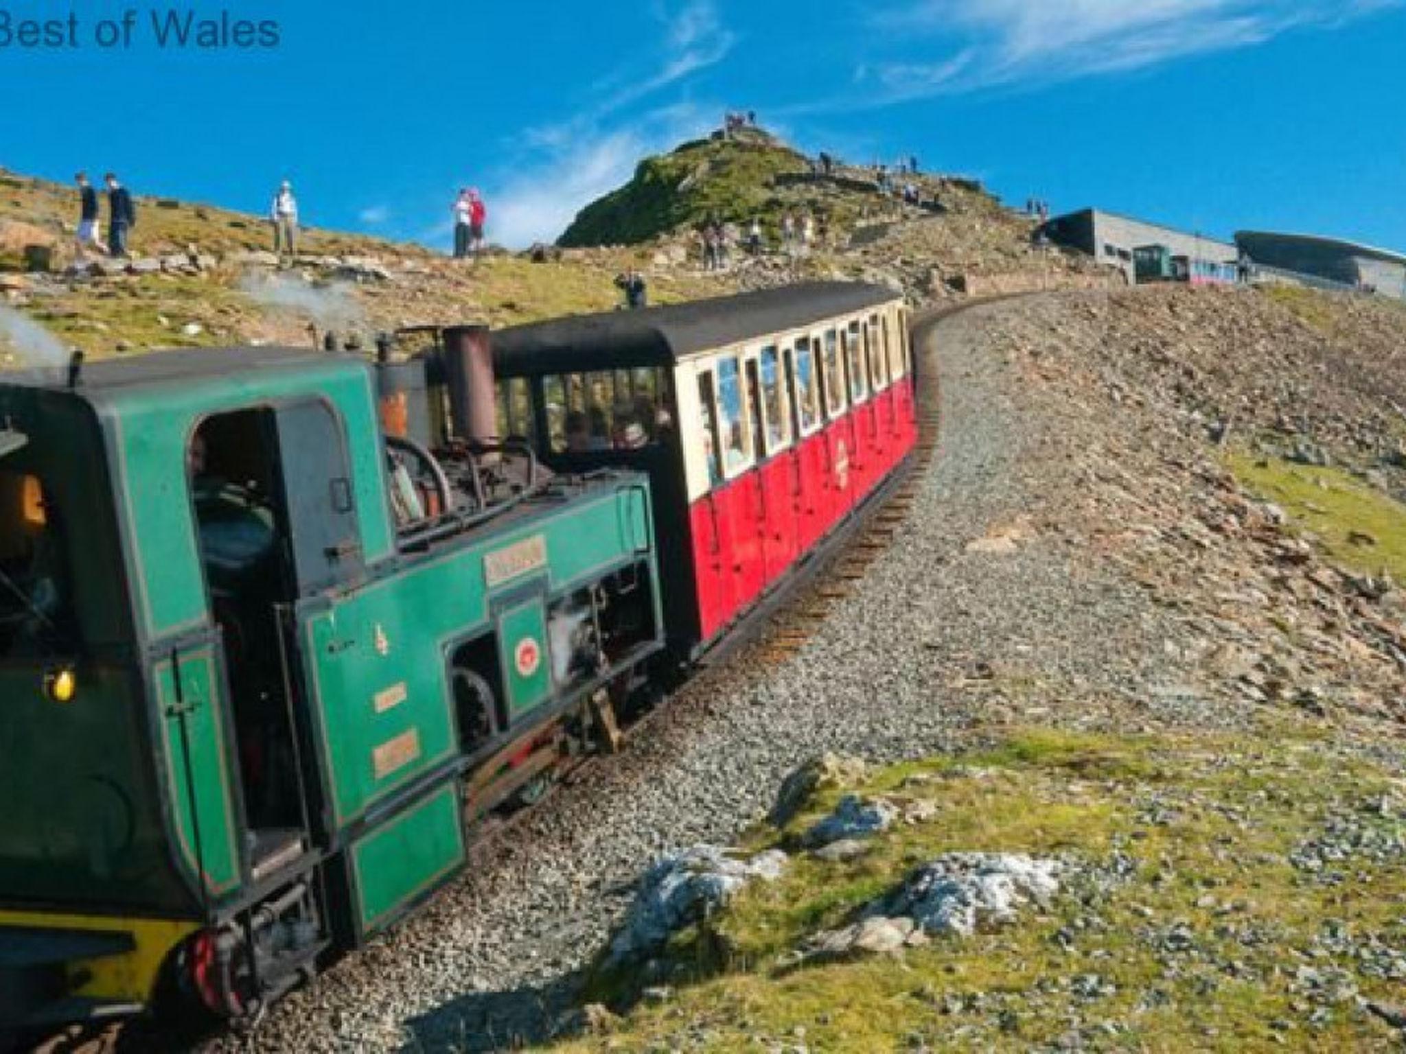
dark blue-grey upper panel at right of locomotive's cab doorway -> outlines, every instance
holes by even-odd
[[[330,406],[304,402],[276,417],[297,594],[360,576],[363,555],[346,440]]]

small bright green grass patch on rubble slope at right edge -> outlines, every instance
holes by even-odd
[[[1406,576],[1406,506],[1337,468],[1232,454],[1240,482],[1281,506],[1348,568]]]

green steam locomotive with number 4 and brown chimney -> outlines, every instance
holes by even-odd
[[[486,330],[436,354],[423,441],[346,354],[0,378],[0,1033],[250,1015],[613,735],[648,481],[496,440]]]

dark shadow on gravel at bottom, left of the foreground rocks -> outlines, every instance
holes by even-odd
[[[486,1054],[564,1039],[578,1030],[568,1015],[579,982],[571,975],[540,987],[451,999],[406,1023],[415,1039],[404,1054]]]

